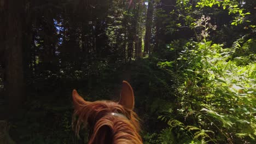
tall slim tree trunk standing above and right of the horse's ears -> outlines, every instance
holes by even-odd
[[[148,1],[148,11],[147,11],[147,19],[146,19],[146,34],[145,34],[145,44],[144,44],[144,53],[150,55],[150,39],[152,35],[152,20],[153,20],[153,0]]]

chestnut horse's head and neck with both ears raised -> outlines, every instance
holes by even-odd
[[[89,144],[101,143],[142,143],[139,136],[138,116],[133,112],[134,96],[130,84],[123,81],[120,101],[85,101],[77,91],[73,91],[75,133],[80,125],[90,129]],[[115,115],[116,114],[116,115]],[[74,121],[78,115],[77,121]]]

